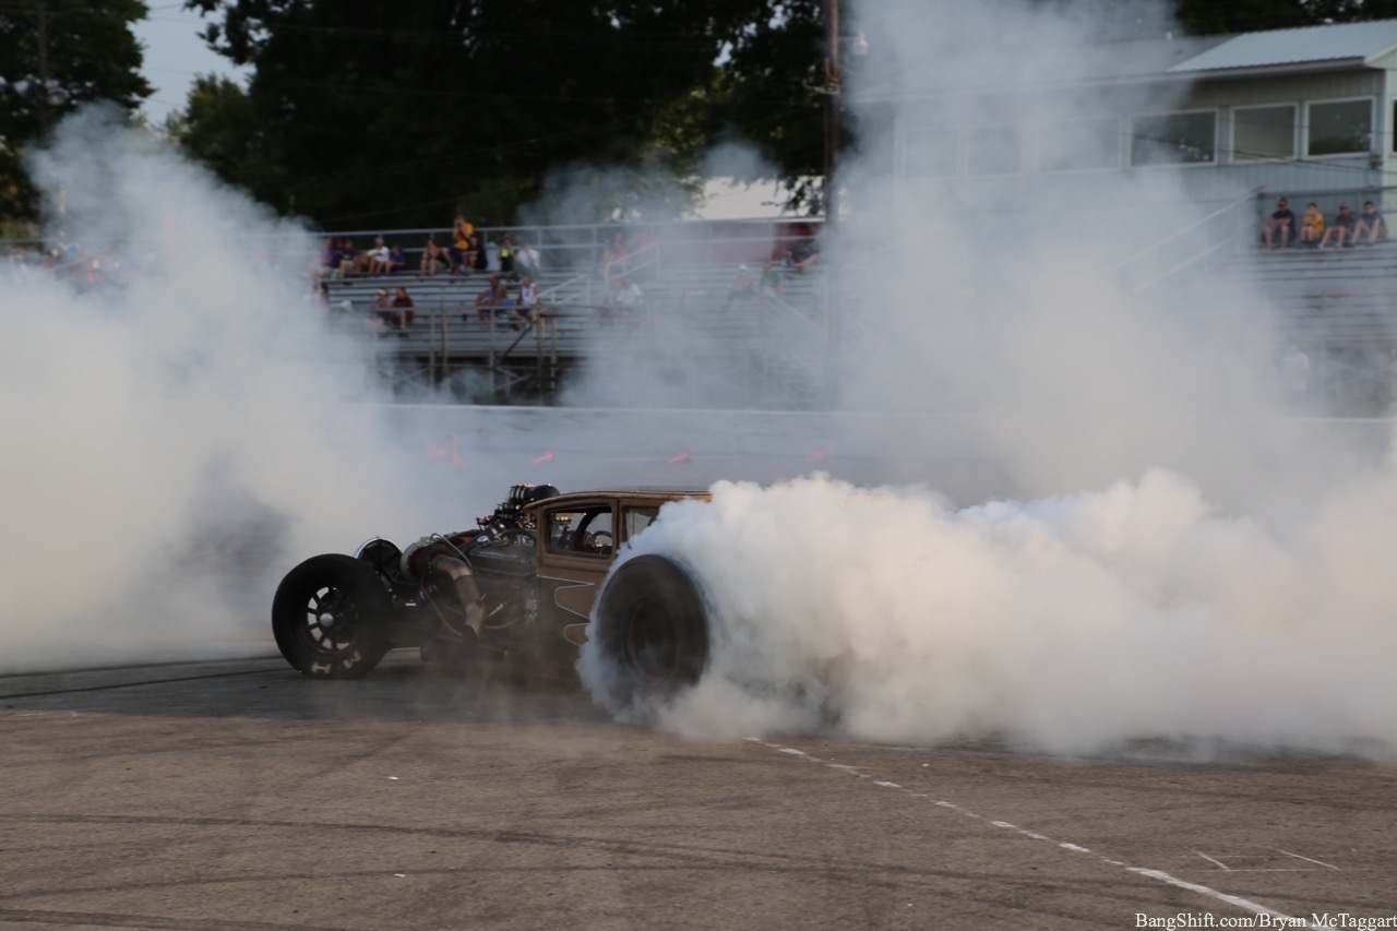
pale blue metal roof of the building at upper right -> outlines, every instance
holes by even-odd
[[[1267,29],[1225,38],[1168,68],[1169,74],[1287,66],[1363,66],[1397,48],[1397,20]]]

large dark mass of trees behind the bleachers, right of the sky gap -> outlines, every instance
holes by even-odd
[[[284,212],[344,229],[439,226],[457,211],[507,222],[567,171],[608,173],[588,207],[604,219],[623,205],[624,179],[657,166],[692,175],[724,42],[768,3],[187,6],[210,15],[211,48],[253,67],[247,101],[263,165],[218,171]],[[224,137],[196,131],[215,119],[186,115],[194,155],[205,155],[200,140]]]

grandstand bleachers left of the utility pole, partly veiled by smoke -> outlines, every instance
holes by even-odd
[[[753,270],[756,271],[756,270]],[[645,294],[644,312],[608,303],[595,271],[541,270],[534,277],[542,313],[532,324],[507,316],[478,319],[486,273],[326,282],[332,319],[372,340],[380,375],[404,384],[441,384],[474,370],[492,400],[548,397],[567,370],[588,356],[651,369],[703,368],[735,373],[743,394],[774,407],[805,407],[819,386],[823,358],[823,275],[788,273],[781,296],[729,301],[736,264],[662,267],[637,261],[631,277]],[[373,323],[380,288],[404,287],[416,320],[405,330]],[[597,351],[599,347],[599,352]]]

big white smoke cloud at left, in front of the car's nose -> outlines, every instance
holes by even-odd
[[[0,273],[0,668],[265,651],[293,562],[430,513],[314,242],[102,110],[34,168],[82,261]]]

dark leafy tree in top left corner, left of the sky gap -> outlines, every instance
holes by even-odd
[[[24,154],[84,103],[131,113],[149,96],[131,24],[142,0],[8,0],[0,7],[0,217],[32,218]]]

